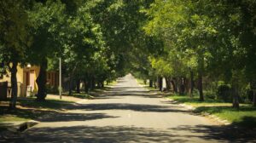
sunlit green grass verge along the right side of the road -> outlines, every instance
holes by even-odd
[[[198,97],[190,98],[188,96],[171,95],[168,98],[194,106],[197,113],[210,113],[221,119],[227,120],[232,124],[236,124],[247,128],[256,128],[256,107],[248,104],[241,104],[240,109],[232,108],[231,103],[224,103],[219,100],[199,101]]]

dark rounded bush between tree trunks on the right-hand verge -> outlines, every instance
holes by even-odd
[[[224,100],[225,102],[232,101],[232,94],[230,94],[230,85],[220,84],[218,85],[217,98],[218,100]]]

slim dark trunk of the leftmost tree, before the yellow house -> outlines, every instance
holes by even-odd
[[[17,62],[13,62],[13,66],[11,67],[11,86],[12,86],[12,94],[11,94],[11,100],[9,102],[9,109],[15,109],[16,108],[16,101],[17,101],[17,95],[18,95],[18,85],[17,85]]]

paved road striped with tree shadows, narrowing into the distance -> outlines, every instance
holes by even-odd
[[[44,117],[21,142],[244,141],[206,117],[193,115],[140,87],[127,75],[95,100]]]

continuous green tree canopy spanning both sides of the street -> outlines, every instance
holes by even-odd
[[[256,77],[253,0],[0,4],[0,77],[14,61],[40,65],[47,59],[47,69],[57,70],[61,57],[64,77],[70,81],[103,83],[128,72],[143,80],[174,80],[193,73],[197,83],[224,81],[241,100],[248,99],[247,85]],[[230,101],[224,97],[227,87],[212,87],[206,87],[208,98],[214,99],[218,90],[218,98]]]

